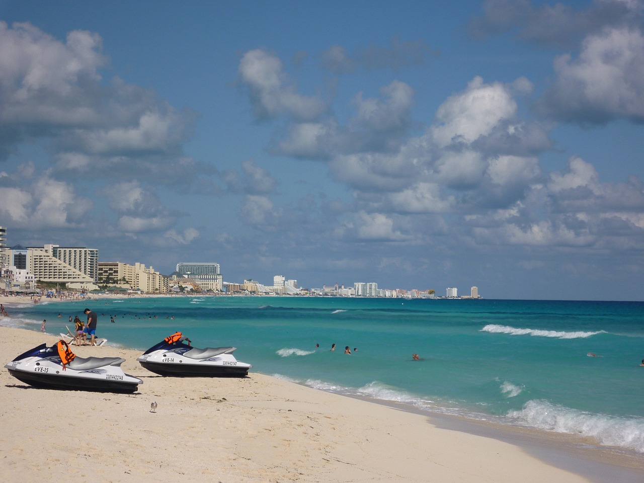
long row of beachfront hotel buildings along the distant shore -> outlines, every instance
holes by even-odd
[[[223,281],[219,263],[178,262],[176,269],[164,275],[146,267],[121,261],[100,261],[98,249],[61,247],[46,243],[42,247],[6,246],[6,227],[0,226],[0,290],[37,292],[39,285],[79,292],[108,291],[128,294],[261,295],[261,296],[332,296],[379,298],[449,298],[480,299],[478,287],[469,295],[459,296],[455,287],[444,295],[433,289],[379,289],[375,282],[334,283],[321,288],[305,289],[296,279],[283,275],[273,277],[272,285],[254,279],[243,283]]]

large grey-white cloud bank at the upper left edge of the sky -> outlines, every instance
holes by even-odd
[[[30,140],[48,143],[66,176],[160,171],[158,182],[193,182],[194,171],[168,171],[196,114],[117,77],[103,82],[106,64],[97,33],[75,30],[62,43],[32,24],[0,22],[0,159]]]

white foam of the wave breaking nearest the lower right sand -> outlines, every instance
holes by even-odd
[[[644,418],[625,418],[588,413],[551,404],[528,401],[520,411],[508,414],[518,422],[540,430],[594,437],[608,446],[619,446],[644,453]]]

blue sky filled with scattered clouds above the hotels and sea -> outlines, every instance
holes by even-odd
[[[0,224],[233,282],[642,300],[643,8],[0,1]]]

